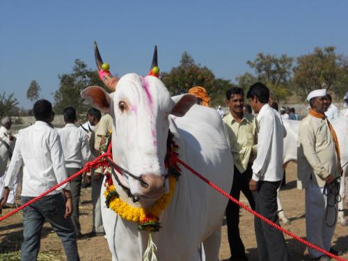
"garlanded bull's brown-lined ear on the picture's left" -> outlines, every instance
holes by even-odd
[[[110,111],[112,98],[102,87],[89,86],[81,91],[81,97],[100,111]]]

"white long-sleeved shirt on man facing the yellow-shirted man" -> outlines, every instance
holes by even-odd
[[[284,127],[279,113],[269,104],[262,106],[258,117],[258,155],[253,162],[253,180],[283,179]]]

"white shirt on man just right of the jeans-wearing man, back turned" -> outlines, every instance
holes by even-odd
[[[65,167],[82,168],[90,160],[90,148],[86,132],[72,123],[58,130],[65,159]]]

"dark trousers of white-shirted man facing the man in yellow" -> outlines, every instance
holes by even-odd
[[[258,182],[256,193],[256,212],[262,214],[270,221],[279,225],[277,213],[277,189],[281,181],[278,182]],[[283,232],[255,217],[255,234],[258,243],[258,253],[260,261],[287,261],[289,254]]]

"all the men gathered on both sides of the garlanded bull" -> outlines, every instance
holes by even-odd
[[[203,93],[198,103],[207,106],[209,97],[202,89],[204,90],[202,87],[192,88],[190,93]],[[244,104],[245,98],[250,105]],[[327,193],[337,185],[341,174],[339,144],[330,123],[336,117],[335,106],[331,104],[331,96],[324,89],[311,92],[307,100],[310,110],[308,116],[301,120],[298,141],[299,188],[306,189],[307,239],[339,255],[340,251],[331,248],[335,216],[334,212],[328,212],[328,206],[332,205],[335,195]],[[218,113],[223,118],[226,138],[235,159],[230,195],[239,199],[242,191],[252,209],[279,224],[276,197],[283,180],[283,138],[286,135],[283,119],[291,117],[299,120],[299,116],[290,108],[281,108],[278,113],[278,104],[269,103],[269,89],[257,82],[248,89],[246,97],[242,88],[228,90],[226,104],[230,111],[223,113],[219,107]],[[253,116],[251,109],[258,116]],[[94,132],[92,136],[88,136],[85,127],[75,125],[76,110],[68,107],[63,111],[65,127],[56,132],[52,127],[52,104],[47,100],[35,102],[33,114],[35,124],[19,130],[17,134],[13,156],[3,180],[5,191],[0,201],[0,213],[22,167],[24,204],[80,171],[86,161],[98,157],[100,146],[113,126],[111,116],[102,116],[100,111],[92,108],[88,111],[87,118],[90,125],[88,128],[93,127]],[[0,135],[5,133],[10,136],[8,123],[8,118],[3,119]],[[100,210],[102,180],[102,168],[93,169],[90,173],[93,202],[93,228],[90,235],[104,235]],[[45,221],[51,224],[61,238],[67,259],[79,260],[77,239],[86,237],[81,234],[79,223],[81,182],[82,176],[79,175],[23,209],[24,241],[21,260],[36,260]],[[226,220],[230,260],[248,260],[239,235],[238,205],[228,203]],[[328,221],[333,225],[328,226]],[[259,260],[289,260],[282,232],[257,218],[254,226]],[[313,260],[330,260],[312,248],[308,251]]]

